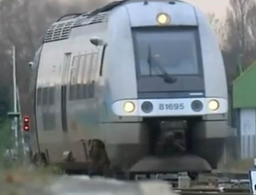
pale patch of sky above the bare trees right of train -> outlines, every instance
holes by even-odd
[[[194,6],[197,6],[202,12],[212,12],[218,18],[226,17],[226,9],[229,5],[229,0],[183,0],[187,1]]]

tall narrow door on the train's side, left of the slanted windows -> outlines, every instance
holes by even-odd
[[[65,53],[62,78],[61,78],[61,122],[62,131],[67,133],[67,84],[68,84],[68,70],[70,69],[71,53]]]

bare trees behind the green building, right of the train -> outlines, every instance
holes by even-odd
[[[227,9],[225,23],[225,44],[223,44],[224,60],[228,82],[237,77],[241,69],[246,69],[255,60],[252,55],[252,38],[248,15],[255,6],[254,0],[230,0],[230,8]]]

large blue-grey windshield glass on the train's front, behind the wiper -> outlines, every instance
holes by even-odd
[[[163,74],[149,64],[149,45],[151,56],[167,74],[199,74],[197,29],[136,28],[133,29],[133,39],[141,76]]]

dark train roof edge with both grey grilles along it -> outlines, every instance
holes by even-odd
[[[46,35],[44,36],[43,43],[48,43],[56,40],[65,40],[69,38],[70,31],[73,27],[107,22],[109,12],[111,12],[112,9],[115,9],[117,6],[122,6],[123,4],[128,4],[132,2],[144,2],[146,4],[150,1],[162,1],[167,2],[168,4],[175,4],[176,2],[186,3],[181,0],[122,0],[113,1],[110,4],[102,6],[99,9],[95,9],[91,12],[66,14],[60,17],[49,27],[49,29],[46,31]]]

